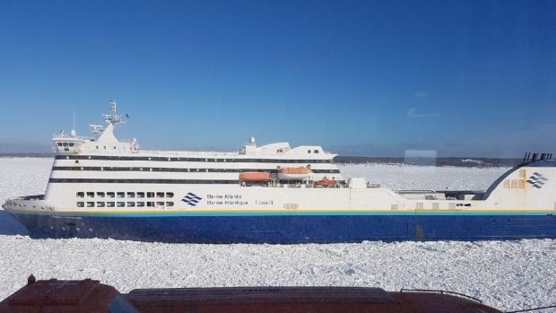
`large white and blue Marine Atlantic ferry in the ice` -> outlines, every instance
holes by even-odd
[[[239,152],[169,152],[120,141],[110,102],[95,135],[53,137],[45,195],[3,207],[34,238],[191,243],[556,238],[556,161],[526,153],[488,190],[394,191],[343,178],[320,146],[251,138]]]

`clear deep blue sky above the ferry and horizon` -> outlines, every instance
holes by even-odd
[[[143,147],[347,155],[556,152],[556,1],[0,0],[0,152]]]

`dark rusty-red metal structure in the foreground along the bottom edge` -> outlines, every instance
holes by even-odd
[[[500,313],[445,291],[352,287],[138,289],[127,294],[99,281],[29,283],[0,302],[0,313]]]

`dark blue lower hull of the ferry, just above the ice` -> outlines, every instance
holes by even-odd
[[[34,238],[222,244],[556,238],[552,213],[12,214]]]

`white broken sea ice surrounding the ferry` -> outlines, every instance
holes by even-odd
[[[43,193],[51,164],[52,159],[0,159],[0,201]],[[441,190],[484,189],[507,169],[347,164],[340,170],[394,189]],[[338,285],[457,291],[501,310],[556,304],[554,239],[289,246],[30,239],[0,211],[0,249],[0,299],[32,273],[38,279],[98,279],[119,291]]]

